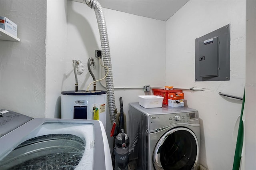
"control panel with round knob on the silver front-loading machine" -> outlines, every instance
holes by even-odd
[[[199,124],[198,111],[177,114],[150,115],[148,119],[149,130],[166,128],[177,123]]]

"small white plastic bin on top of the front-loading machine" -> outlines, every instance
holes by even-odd
[[[139,104],[145,108],[157,108],[162,107],[164,97],[154,95],[143,95],[139,97]]]

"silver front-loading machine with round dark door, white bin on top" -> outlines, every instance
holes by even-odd
[[[131,169],[196,170],[199,115],[188,107],[144,108],[129,103]]]

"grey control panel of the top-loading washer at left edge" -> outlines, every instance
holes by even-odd
[[[33,119],[5,109],[0,109],[0,137]]]

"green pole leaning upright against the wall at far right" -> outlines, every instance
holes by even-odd
[[[242,121],[243,112],[244,112],[244,102],[245,102],[245,89],[244,89],[244,97],[243,97],[243,103],[242,103],[242,109],[241,109],[241,115],[240,115],[240,121],[239,121],[239,127],[238,127],[238,134],[236,139],[236,150],[235,150],[235,156],[234,156],[234,162],[233,162],[233,170],[239,170],[240,162],[241,162],[242,148],[243,148],[243,142],[244,142],[244,122]]]

